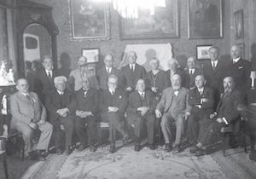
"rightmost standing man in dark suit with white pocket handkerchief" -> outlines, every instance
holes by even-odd
[[[242,95],[246,95],[251,86],[252,64],[250,61],[243,60],[241,53],[241,48],[238,45],[231,47],[230,75],[235,79],[236,89],[240,90]]]

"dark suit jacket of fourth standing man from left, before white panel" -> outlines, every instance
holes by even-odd
[[[140,78],[144,80],[147,78],[147,73],[143,66],[136,64],[134,72],[131,72],[129,64],[121,69],[120,80],[122,81],[122,86],[124,89],[130,86],[133,90],[135,90],[137,80]]]

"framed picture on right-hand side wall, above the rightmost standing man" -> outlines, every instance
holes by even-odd
[[[243,38],[243,9],[239,9],[234,12],[234,30],[235,39]]]

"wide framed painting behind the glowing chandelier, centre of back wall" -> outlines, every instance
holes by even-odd
[[[166,0],[165,7],[138,9],[137,18],[119,16],[121,39],[178,38],[178,0]]]

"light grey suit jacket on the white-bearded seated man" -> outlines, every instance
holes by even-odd
[[[172,97],[174,95],[174,90],[172,87],[167,88],[163,91],[163,95],[161,97],[160,102],[157,104],[157,109],[160,110],[160,112],[164,111],[164,113],[167,113],[169,108],[172,105]],[[189,106],[189,90],[181,87],[178,94],[177,94],[177,104],[175,107],[175,111],[172,113],[175,115],[183,114],[186,112],[191,111],[191,107]]]

